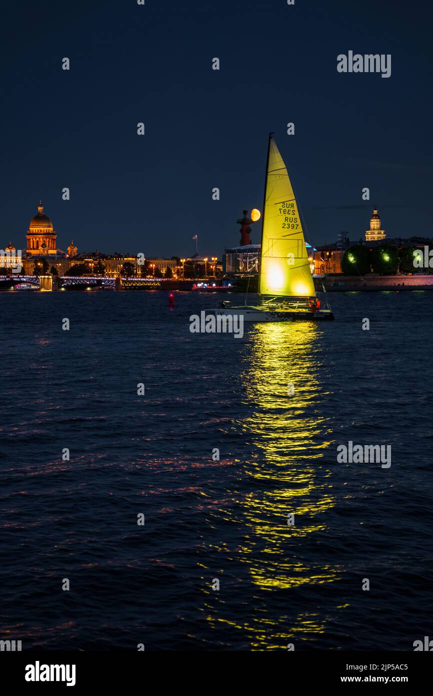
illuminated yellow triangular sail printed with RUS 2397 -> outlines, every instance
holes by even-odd
[[[265,187],[259,294],[262,298],[316,296],[295,194],[272,138]]]

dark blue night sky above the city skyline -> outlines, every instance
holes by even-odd
[[[3,248],[42,198],[64,250],[189,255],[198,233],[220,257],[262,208],[270,130],[313,244],[359,239],[374,203],[391,237],[432,235],[430,3],[25,0],[2,19]],[[350,49],[392,54],[391,77],[338,73]]]

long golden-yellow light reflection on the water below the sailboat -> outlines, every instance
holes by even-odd
[[[307,640],[306,633],[323,633],[326,619],[311,610],[307,594],[302,594],[305,606],[297,594],[297,610],[288,614],[290,591],[332,583],[340,575],[338,567],[311,552],[309,543],[311,535],[326,530],[325,513],[334,506],[332,474],[322,463],[332,432],[321,379],[321,333],[310,322],[256,324],[245,345],[241,381],[249,415],[240,427],[251,451],[243,462],[251,485],[237,500],[243,543],[233,560],[247,566],[256,587],[249,619],[237,626],[253,649],[284,649],[284,641],[296,635]],[[292,513],[293,526],[288,525]],[[284,599],[281,590],[288,591]],[[275,591],[284,610],[275,606]],[[226,622],[222,596],[218,603],[218,622]],[[233,626],[233,619],[227,624]]]

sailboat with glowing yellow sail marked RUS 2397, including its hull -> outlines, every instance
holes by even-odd
[[[232,306],[224,301],[215,315],[242,315],[247,322],[334,319],[329,305],[321,306],[316,297],[295,194],[272,136],[266,162],[258,302]]]

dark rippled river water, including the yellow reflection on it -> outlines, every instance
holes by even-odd
[[[432,635],[433,293],[327,298],[335,322],[238,340],[189,331],[216,295],[170,312],[165,293],[0,293],[2,632],[150,650]],[[348,441],[391,445],[391,467],[338,464]]]

